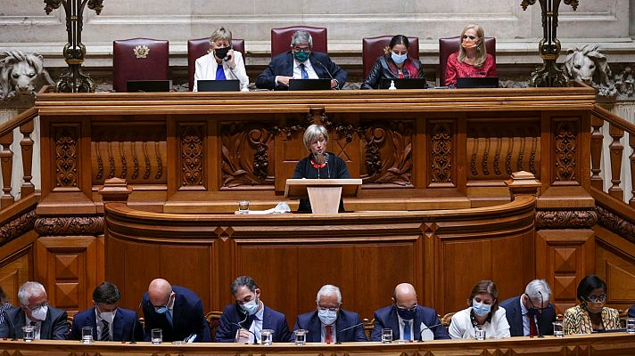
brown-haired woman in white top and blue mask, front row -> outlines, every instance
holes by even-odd
[[[505,308],[499,306],[499,291],[491,280],[482,280],[472,288],[469,307],[452,316],[449,336],[453,339],[474,338],[474,330],[482,326],[486,338],[509,337]]]

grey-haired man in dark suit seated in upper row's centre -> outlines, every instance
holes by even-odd
[[[348,73],[326,53],[312,52],[313,38],[299,30],[291,38],[291,51],[276,55],[256,79],[261,89],[286,90],[289,79],[331,79],[332,89],[342,89]]]

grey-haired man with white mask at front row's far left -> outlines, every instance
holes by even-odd
[[[41,340],[66,340],[69,337],[67,314],[48,305],[46,290],[37,282],[26,282],[18,291],[21,306],[13,306],[4,314],[0,325],[0,337],[23,336],[22,327],[35,327],[35,338]]]

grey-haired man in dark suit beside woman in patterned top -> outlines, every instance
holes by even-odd
[[[500,303],[505,308],[511,336],[553,335],[551,324],[556,311],[549,303],[551,288],[544,279],[533,279],[524,288],[524,294]]]

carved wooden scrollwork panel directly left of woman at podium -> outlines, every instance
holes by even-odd
[[[221,189],[272,188],[274,184],[274,132],[293,133],[293,127],[267,128],[267,123],[221,125]],[[289,136],[287,136],[288,138]]]

